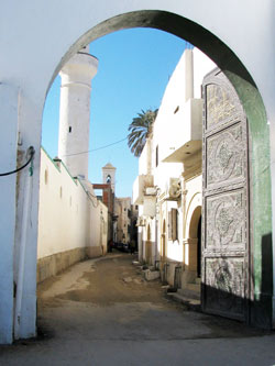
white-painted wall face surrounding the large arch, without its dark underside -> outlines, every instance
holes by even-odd
[[[258,164],[253,178],[256,182],[253,199],[255,207],[263,211],[264,208],[261,208],[261,204],[267,204],[271,186],[266,187],[267,196],[262,198],[262,203],[258,197],[261,187],[268,185],[270,171],[272,171],[273,187],[275,187],[275,146],[272,145],[271,149],[268,148],[268,127],[271,127],[272,141],[275,137],[274,14],[273,0],[264,2],[227,0],[222,2],[222,7],[218,0],[168,2],[166,0],[102,0],[100,2],[96,0],[77,2],[74,0],[44,2],[14,0],[0,4],[0,108],[2,111],[0,166],[3,170],[15,167],[18,130],[21,136],[21,149],[24,152],[33,145],[36,151],[28,211],[28,245],[24,257],[24,267],[28,270],[24,273],[23,280],[20,337],[35,335],[41,121],[47,89],[64,63],[94,38],[119,29],[133,26],[160,27],[182,35],[200,47],[227,71],[237,88],[240,86],[238,92],[243,97],[241,99],[244,101],[244,108],[251,109],[253,114],[255,101],[260,106],[255,112],[258,114],[254,118],[262,119],[260,127],[262,140],[252,138],[254,142],[252,148],[256,156],[255,146],[264,142],[265,155],[256,157]],[[250,76],[257,86],[265,108]],[[252,102],[245,97],[248,90],[255,96]],[[12,113],[9,113],[10,111]],[[253,125],[254,135],[257,125],[260,123],[256,122]],[[264,171],[262,176],[258,173],[260,165]],[[11,268],[13,255],[18,254],[18,240],[22,232],[21,218],[20,214],[16,218],[16,212],[21,212],[24,191],[21,187],[16,211],[14,177],[6,178],[0,184],[1,207],[7,212],[6,218],[9,218],[8,226],[7,222],[0,221],[0,275],[2,278],[0,298],[6,299],[4,303],[0,304],[0,343],[10,343],[13,330],[14,280]],[[273,201],[275,202],[275,188]],[[260,219],[255,219],[260,220],[255,221],[255,226],[260,228],[256,235],[258,242],[265,234],[271,235],[270,206],[265,212],[267,212],[266,217],[262,218],[258,214]],[[261,220],[265,220],[264,225]],[[264,230],[261,231],[261,228]]]

